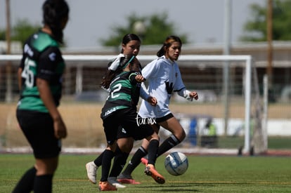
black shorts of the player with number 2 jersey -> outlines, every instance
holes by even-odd
[[[134,138],[142,140],[153,135],[153,128],[148,124],[138,124],[136,109],[120,109],[109,117],[103,119],[106,140],[112,144],[118,138]],[[124,129],[126,128],[126,129]]]

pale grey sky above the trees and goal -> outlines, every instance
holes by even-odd
[[[22,18],[32,24],[41,24],[41,0],[10,0],[11,25]],[[0,28],[6,26],[6,0],[0,0]],[[101,46],[101,38],[112,34],[114,25],[127,25],[127,16],[168,13],[168,22],[174,22],[177,32],[187,34],[192,44],[224,41],[225,0],[67,0],[70,20],[65,28],[69,48]],[[250,4],[266,4],[266,0],[232,0],[231,41],[237,42],[243,34],[243,24],[250,19]]]

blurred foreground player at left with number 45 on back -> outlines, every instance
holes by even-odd
[[[13,192],[52,192],[60,139],[67,136],[57,107],[65,69],[59,46],[63,43],[69,6],[65,0],[46,0],[42,9],[44,27],[32,34],[23,48],[16,112],[20,128],[32,146],[35,164],[22,175]]]

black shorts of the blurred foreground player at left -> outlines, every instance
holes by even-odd
[[[54,135],[53,119],[50,114],[18,109],[16,117],[22,132],[32,146],[35,158],[58,157],[61,144]]]

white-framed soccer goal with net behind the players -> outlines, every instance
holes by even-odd
[[[69,133],[63,141],[64,148],[104,147],[100,113],[107,93],[99,84],[108,61],[114,57],[64,55],[67,68],[60,111]],[[0,148],[29,146],[15,119],[20,58],[21,55],[0,55],[0,100],[4,101],[1,109],[5,110],[0,113],[4,126],[0,129]],[[155,58],[138,55],[142,66]],[[257,72],[250,55],[181,55],[178,64],[186,88],[199,95],[199,100],[193,102],[175,94],[171,99],[170,109],[187,135],[179,148],[266,151]],[[169,133],[162,129],[160,135],[163,140]]]

